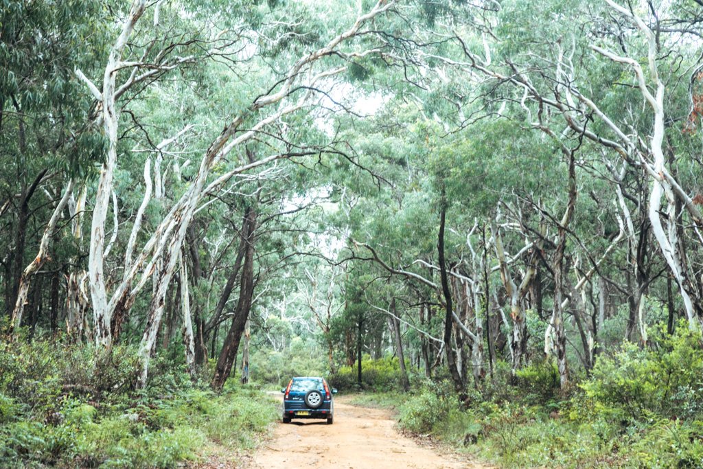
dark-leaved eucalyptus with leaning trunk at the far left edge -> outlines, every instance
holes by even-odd
[[[65,261],[50,245],[57,224],[63,226],[63,195],[90,174],[103,148],[86,125],[89,100],[72,79],[73,68],[92,68],[92,54],[103,50],[107,37],[95,29],[103,13],[103,4],[92,1],[67,1],[58,11],[53,2],[17,1],[0,13],[0,217],[8,240],[0,261],[4,306],[15,329],[25,305],[37,304],[28,297],[32,278],[52,259],[58,296]],[[33,233],[43,233],[41,240]],[[34,290],[41,300],[41,288]],[[52,302],[56,316],[58,302]]]

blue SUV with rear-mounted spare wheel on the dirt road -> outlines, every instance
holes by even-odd
[[[327,424],[334,421],[335,404],[325,378],[292,378],[283,392],[283,423],[292,418],[326,418]]]

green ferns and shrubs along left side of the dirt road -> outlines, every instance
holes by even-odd
[[[131,349],[94,352],[0,344],[0,467],[181,467],[205,444],[251,447],[278,418],[260,391],[214,394],[180,362],[155,360],[150,385],[134,390]]]

